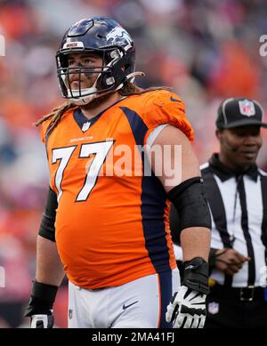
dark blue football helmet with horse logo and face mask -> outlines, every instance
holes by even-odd
[[[69,67],[68,55],[75,52],[94,52],[101,56],[102,66],[90,68],[79,64]],[[134,80],[135,47],[127,31],[116,20],[89,18],[77,21],[65,33],[61,47],[56,53],[57,75],[62,96],[78,105],[87,104],[104,93],[115,92],[126,81]],[[93,86],[81,87],[81,75],[97,74]],[[72,89],[69,76],[79,77],[79,87]]]

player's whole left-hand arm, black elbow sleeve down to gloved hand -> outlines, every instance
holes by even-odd
[[[53,326],[53,302],[65,275],[54,236],[57,205],[56,194],[50,188],[37,237],[36,279],[25,312],[31,318],[31,327],[36,328]]]

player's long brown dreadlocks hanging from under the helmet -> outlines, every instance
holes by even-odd
[[[142,89],[139,86],[129,82],[129,83],[126,83],[120,90],[118,90],[118,93],[120,93],[122,96],[130,96],[130,95],[140,95],[142,93],[150,93],[155,90],[170,90],[170,89],[171,89],[170,87],[166,87],[166,86],[158,86],[158,87],[150,87],[147,89]],[[98,99],[95,99],[95,100],[97,101]],[[63,103],[60,107],[53,109],[51,113],[37,120],[34,125],[39,126],[43,124],[44,121],[51,119],[51,122],[47,127],[46,133],[52,133],[53,129],[60,123],[61,117],[63,117],[64,113],[67,112],[67,110],[69,109],[75,109],[77,107],[78,106],[74,102],[67,101]]]

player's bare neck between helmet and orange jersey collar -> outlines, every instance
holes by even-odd
[[[121,98],[122,96],[119,93],[110,93],[109,95],[103,95],[87,105],[82,106],[81,109],[85,117],[90,120],[100,114],[102,110],[108,109]]]

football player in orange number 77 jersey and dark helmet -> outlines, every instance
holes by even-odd
[[[53,326],[65,273],[70,327],[204,326],[211,224],[193,130],[178,95],[134,84],[143,75],[134,59],[133,39],[109,18],[79,20],[56,53],[67,102],[37,123],[50,186],[26,311],[32,327]],[[175,148],[182,166],[170,173]],[[170,201],[182,219],[182,285]]]

